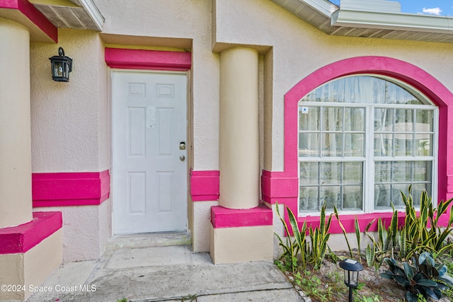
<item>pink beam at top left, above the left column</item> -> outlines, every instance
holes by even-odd
[[[24,0],[7,0],[0,1],[0,9],[16,9],[20,11],[23,16],[28,18],[35,24],[43,33],[45,33],[54,42],[58,42],[58,28],[55,27],[47,18],[35,8],[29,1]]]

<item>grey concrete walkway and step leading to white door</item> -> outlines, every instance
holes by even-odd
[[[305,301],[272,262],[213,265],[190,245],[118,247],[62,265],[28,302]]]

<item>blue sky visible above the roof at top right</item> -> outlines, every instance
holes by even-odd
[[[367,1],[367,0],[363,0]],[[402,13],[423,13],[435,16],[453,16],[453,0],[394,0],[401,4]],[[339,4],[340,0],[331,0]]]

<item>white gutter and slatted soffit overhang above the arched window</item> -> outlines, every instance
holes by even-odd
[[[453,42],[453,18],[401,13],[396,1],[271,0],[328,35]],[[364,4],[365,3],[365,4]]]

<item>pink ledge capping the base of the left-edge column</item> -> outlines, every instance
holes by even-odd
[[[33,220],[0,228],[0,255],[27,252],[62,228],[61,212],[33,212]]]

